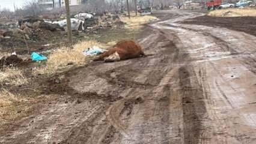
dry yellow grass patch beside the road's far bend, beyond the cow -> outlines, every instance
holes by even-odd
[[[157,20],[157,18],[154,16],[150,16],[150,15],[140,16],[139,14],[138,16],[135,16],[134,13],[131,13],[130,19],[127,16],[121,16],[120,19],[122,22],[127,23],[127,26],[133,27],[133,28],[140,28],[142,25],[146,23],[149,23],[153,20]]]

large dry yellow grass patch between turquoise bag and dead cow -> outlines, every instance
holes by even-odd
[[[52,74],[64,68],[68,68],[69,66],[67,65],[71,63],[76,66],[86,64],[87,57],[85,57],[82,52],[92,46],[105,47],[103,44],[94,40],[82,41],[81,43],[75,44],[73,49],[62,47],[50,53],[46,65],[42,65],[33,72],[34,74]]]

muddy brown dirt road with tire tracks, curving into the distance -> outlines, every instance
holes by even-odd
[[[59,100],[0,143],[256,143],[256,37],[159,15],[138,40],[152,56],[64,74]]]

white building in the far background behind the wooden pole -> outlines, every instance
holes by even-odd
[[[70,6],[80,5],[82,0],[69,0]],[[38,0],[38,4],[46,10],[65,6],[65,0]]]

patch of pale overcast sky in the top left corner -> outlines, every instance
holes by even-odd
[[[14,4],[20,8],[26,1],[28,0],[0,0],[0,8],[8,8],[10,10],[14,10]]]

